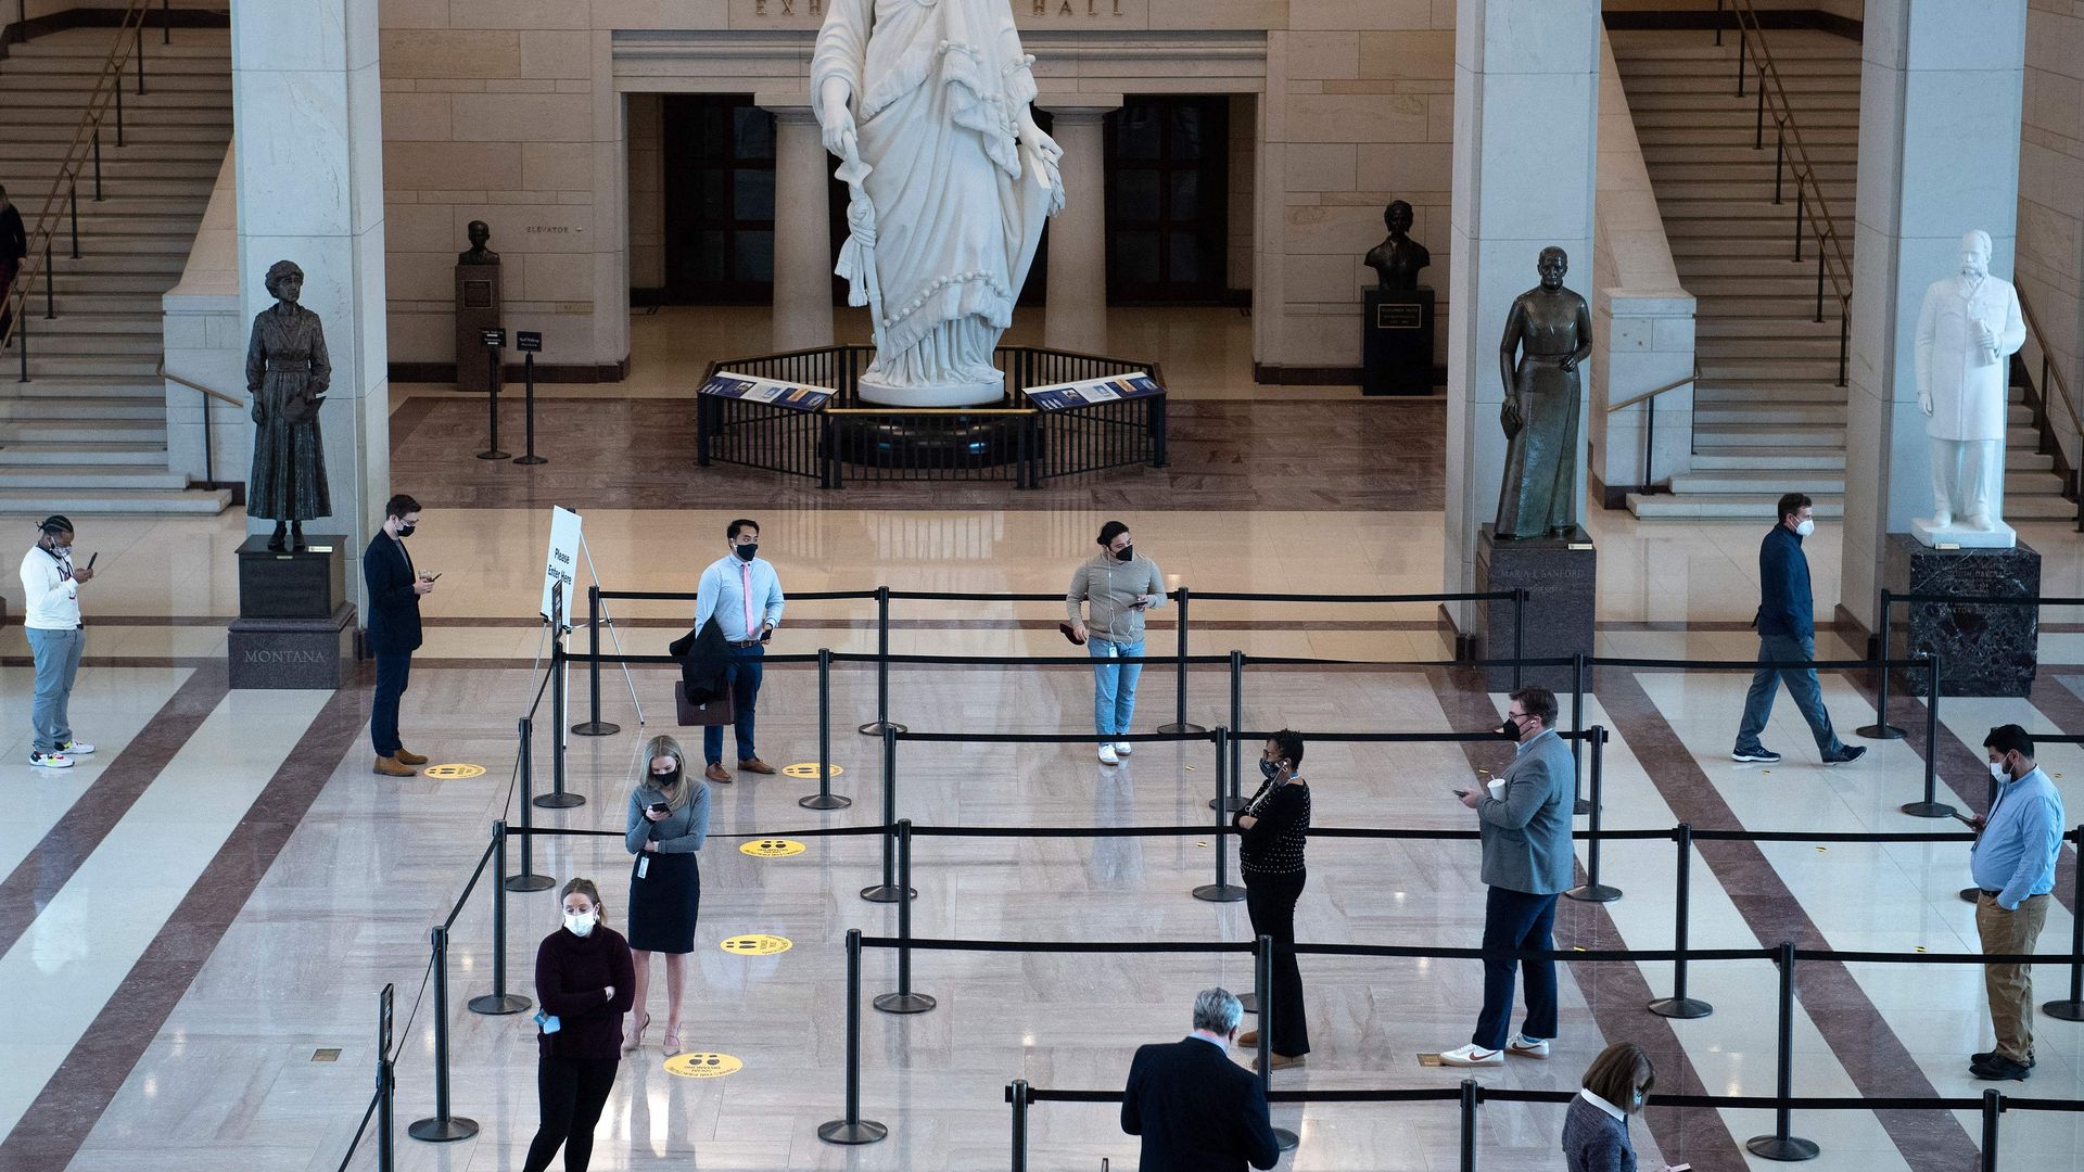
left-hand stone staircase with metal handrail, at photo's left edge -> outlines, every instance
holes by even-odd
[[[0,60],[0,184],[31,234],[115,35],[69,29]],[[21,323],[29,382],[17,382],[15,346],[0,355],[0,513],[215,515],[231,500],[167,471],[167,392],[154,375],[158,298],[181,277],[231,142],[231,42],[225,29],[175,29],[160,44],[146,29],[144,54],[144,96],[135,67],[125,75],[123,146],[113,108],[102,125],[100,202],[92,161],[81,173],[79,259],[69,221],[52,238],[54,319],[35,279]]]

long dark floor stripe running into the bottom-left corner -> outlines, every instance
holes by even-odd
[[[363,732],[356,690],[333,692],[240,820],[210,865],[88,1026],[35,1103],[0,1143],[0,1172],[65,1168],[108,1109],[123,1080],[167,1024],[231,918],[252,897],[283,843]]]

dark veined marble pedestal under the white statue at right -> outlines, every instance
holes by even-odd
[[[2013,548],[1930,548],[1911,534],[1888,534],[1882,584],[1899,594],[2040,594],[2040,553]],[[2036,607],[1974,607],[1959,603],[1901,603],[1890,619],[1890,659],[1913,651],[1940,655],[1942,697],[2024,697],[2034,686],[2040,659]],[[1926,680],[1907,672],[1905,694],[1921,694]],[[1901,678],[1901,676],[1899,676]]]

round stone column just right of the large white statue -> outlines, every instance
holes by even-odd
[[[1048,304],[1042,344],[1082,355],[1107,352],[1107,142],[1100,121],[1121,94],[1042,96],[1050,138],[1063,146],[1065,204],[1048,221]]]

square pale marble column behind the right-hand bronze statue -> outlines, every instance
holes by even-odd
[[[1446,342],[1448,592],[1473,590],[1482,526],[1498,517],[1505,432],[1498,338],[1534,261],[1569,252],[1565,284],[1592,296],[1598,0],[1457,0],[1455,194]],[[1582,384],[1592,386],[1592,371]],[[1580,425],[1580,438],[1588,428]],[[1582,444],[1582,440],[1580,440]],[[1586,457],[1578,455],[1584,515]],[[1469,603],[1450,605],[1471,630]]]

